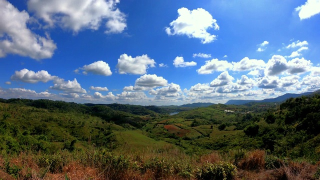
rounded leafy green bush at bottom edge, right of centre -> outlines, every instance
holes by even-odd
[[[204,163],[197,168],[195,177],[198,179],[233,179],[236,174],[236,167],[229,162]]]

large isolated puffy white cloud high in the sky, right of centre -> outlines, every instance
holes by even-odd
[[[201,39],[202,43],[209,43],[216,39],[216,35],[207,32],[207,29],[218,30],[219,26],[212,15],[203,8],[189,10],[179,8],[178,17],[165,28],[168,35],[187,35]]]

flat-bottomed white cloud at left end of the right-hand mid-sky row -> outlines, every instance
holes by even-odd
[[[225,71],[227,69],[231,69],[232,64],[226,60],[218,60],[217,58],[212,60],[206,60],[205,64],[202,65],[196,71],[198,74],[210,74],[213,71]]]

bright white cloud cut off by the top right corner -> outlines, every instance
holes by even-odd
[[[307,0],[303,5],[295,8],[299,12],[300,20],[310,18],[320,13],[320,0]]]

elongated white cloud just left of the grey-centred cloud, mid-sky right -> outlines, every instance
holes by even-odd
[[[255,70],[257,68],[262,68],[266,66],[263,60],[249,59],[249,57],[244,57],[239,62],[231,63],[233,65],[233,71]]]

